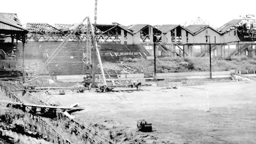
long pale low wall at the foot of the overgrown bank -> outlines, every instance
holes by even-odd
[[[212,72],[213,78],[231,77],[234,70]],[[175,78],[175,79],[207,79],[210,78],[210,72],[173,72],[173,73],[157,73],[158,79]]]

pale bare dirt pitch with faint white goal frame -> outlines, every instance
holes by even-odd
[[[88,125],[113,120],[136,130],[137,120],[145,119],[153,128],[153,132],[147,134],[170,143],[249,144],[256,141],[255,86],[255,81],[193,86],[209,89],[209,112],[206,90],[186,87],[180,87],[180,92],[150,86],[142,87],[146,89],[142,92],[66,91],[66,95],[40,97],[48,102],[59,101],[63,106],[79,103],[86,107],[74,115]]]

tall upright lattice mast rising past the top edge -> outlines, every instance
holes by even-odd
[[[92,69],[92,76],[93,76],[93,88],[95,87],[95,49],[96,49],[96,24],[97,24],[97,0],[95,0],[95,8],[94,8],[94,36],[93,38],[93,69]]]

